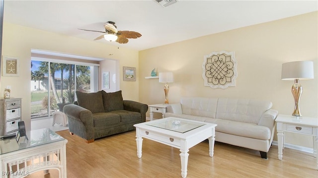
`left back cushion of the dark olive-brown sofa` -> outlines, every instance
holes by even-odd
[[[76,96],[78,98],[78,104],[80,107],[83,107],[92,113],[105,112],[103,106],[103,95],[101,91],[95,93],[76,91]]]

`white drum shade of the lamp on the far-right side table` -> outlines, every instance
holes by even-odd
[[[313,61],[286,62],[282,65],[283,80],[310,80],[314,79]]]

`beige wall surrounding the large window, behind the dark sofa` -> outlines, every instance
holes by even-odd
[[[22,120],[30,129],[30,67],[31,49],[46,50],[71,55],[119,60],[120,89],[123,98],[138,101],[138,79],[136,82],[122,80],[122,66],[136,67],[138,71],[138,51],[117,48],[103,43],[82,40],[42,30],[23,27],[5,22],[3,24],[2,55],[19,59],[19,76],[0,78],[0,96],[3,98],[5,86],[11,86],[11,97],[22,98]],[[109,54],[113,54],[109,56]],[[103,63],[103,62],[101,62]],[[107,70],[100,67],[101,71]],[[137,72],[138,77],[138,72]]]

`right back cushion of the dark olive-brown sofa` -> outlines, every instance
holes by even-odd
[[[121,90],[106,93],[104,90],[101,91],[103,96],[104,110],[105,112],[124,110],[123,96]]]

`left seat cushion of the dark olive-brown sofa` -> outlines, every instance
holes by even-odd
[[[94,127],[103,127],[120,122],[120,116],[112,113],[94,113]]]

